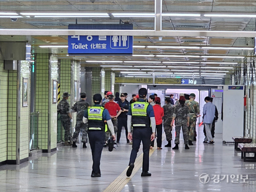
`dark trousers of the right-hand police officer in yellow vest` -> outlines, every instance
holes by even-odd
[[[132,132],[132,149],[130,152],[130,163],[134,163],[137,152],[139,149],[140,142],[142,140],[143,149],[143,163],[142,171],[148,171],[149,169],[149,148],[150,148],[150,137],[152,134],[152,129],[150,127],[137,128],[133,127]]]

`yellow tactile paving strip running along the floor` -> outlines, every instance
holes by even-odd
[[[152,155],[152,153],[154,152],[154,150],[156,149],[156,146],[153,147],[152,149],[149,150],[149,157]],[[142,157],[143,157],[143,153],[140,154],[135,162],[134,162],[134,168],[132,170],[132,173],[130,175],[130,177],[126,176],[126,171],[128,169],[128,166],[122,171],[121,174],[119,174],[119,176],[116,177],[116,179],[114,179],[104,190],[103,192],[118,192],[121,191],[122,188],[125,186],[125,184],[127,184],[129,182],[129,180],[131,179],[131,177],[138,171],[138,169],[142,166]]]

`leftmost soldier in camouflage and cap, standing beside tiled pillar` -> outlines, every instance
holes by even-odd
[[[57,105],[57,112],[60,113],[61,124],[64,127],[64,146],[69,146],[71,140],[70,126],[72,115],[70,113],[70,105],[67,101],[69,96],[70,94],[68,94],[68,92],[63,92],[62,99]]]

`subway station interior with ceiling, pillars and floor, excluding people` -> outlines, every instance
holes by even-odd
[[[255,191],[256,150],[246,161],[232,139],[256,149],[255,31],[255,0],[0,0],[0,191]],[[96,93],[129,101],[141,87],[161,106],[194,93],[196,140],[173,150],[162,131],[152,175],[140,176],[141,144],[127,177],[123,128],[91,177],[89,143],[63,146],[62,93],[73,106],[86,92],[91,106]],[[199,126],[205,96],[218,110],[213,144]]]

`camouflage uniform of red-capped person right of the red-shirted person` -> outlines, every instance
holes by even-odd
[[[189,109],[188,106],[181,104],[178,104],[174,107],[173,117],[175,117],[175,144],[179,144],[179,133],[180,133],[180,127],[182,126],[182,132],[183,132],[183,138],[184,138],[184,144],[188,143],[188,137],[187,137],[187,117],[189,116]]]

